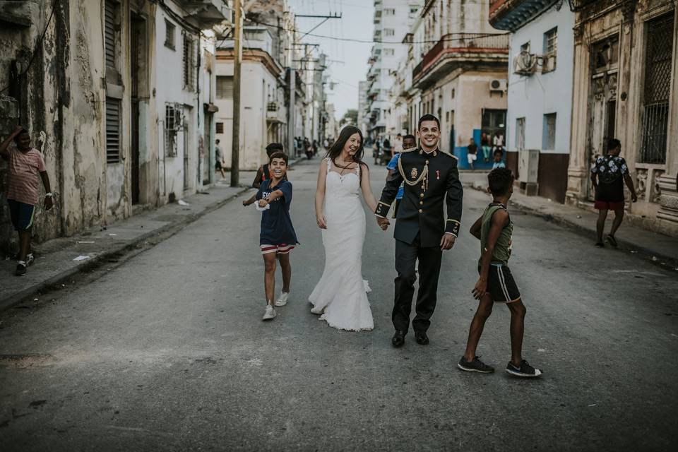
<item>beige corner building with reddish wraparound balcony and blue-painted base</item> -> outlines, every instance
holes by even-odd
[[[506,67],[509,37],[489,25],[489,1],[427,0],[412,26],[405,78],[408,122],[415,130],[422,114],[441,121],[441,145],[468,168],[472,138],[506,136]],[[480,155],[480,151],[479,151]],[[490,167],[479,158],[476,167]]]

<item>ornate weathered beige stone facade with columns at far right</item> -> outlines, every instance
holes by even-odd
[[[631,217],[678,234],[677,2],[573,0],[571,6],[576,89],[567,201],[593,200],[593,159],[618,138],[636,180]]]

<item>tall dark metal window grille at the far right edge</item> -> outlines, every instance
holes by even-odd
[[[673,13],[648,21],[641,162],[666,162],[673,52]]]

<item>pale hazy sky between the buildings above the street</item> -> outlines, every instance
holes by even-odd
[[[374,6],[371,0],[288,0],[295,14],[329,15],[341,13],[342,18],[330,19],[311,32],[312,35],[335,38],[371,40],[374,32]],[[299,30],[307,32],[321,23],[319,18],[297,18]],[[371,44],[347,42],[325,37],[307,36],[302,42],[320,44],[328,59],[330,81],[334,90],[328,90],[328,102],[335,105],[337,119],[347,109],[358,107],[358,82],[367,75],[367,59]],[[314,53],[317,56],[318,52]]]

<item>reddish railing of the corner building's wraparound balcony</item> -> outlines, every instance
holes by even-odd
[[[444,35],[424,55],[415,69],[412,78],[416,78],[424,69],[438,61],[445,54],[458,54],[470,57],[472,54],[509,54],[509,35],[487,35],[481,33],[451,33]]]

